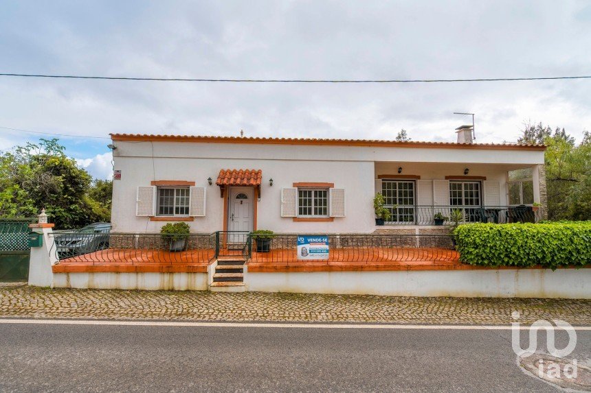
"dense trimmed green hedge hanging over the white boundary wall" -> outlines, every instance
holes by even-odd
[[[554,270],[591,263],[591,221],[466,224],[454,233],[460,261],[471,265]]]

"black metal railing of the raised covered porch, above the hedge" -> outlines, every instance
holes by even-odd
[[[542,211],[532,206],[398,206],[386,225],[450,225],[454,211],[460,213],[459,224],[469,222],[538,222]],[[437,217],[444,217],[443,223]]]

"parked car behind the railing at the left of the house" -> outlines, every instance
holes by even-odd
[[[88,254],[109,248],[111,224],[95,222],[83,228],[56,234],[55,242],[60,258]]]

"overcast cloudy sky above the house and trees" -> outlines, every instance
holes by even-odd
[[[590,1],[3,1],[0,72],[148,78],[591,75]],[[524,121],[591,130],[591,80],[222,84],[0,77],[0,126],[109,132],[516,141]],[[38,134],[0,128],[0,149]],[[93,176],[108,139],[61,138]]]

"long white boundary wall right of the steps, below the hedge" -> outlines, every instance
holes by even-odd
[[[591,269],[252,273],[247,291],[383,296],[591,298]]]

